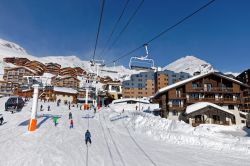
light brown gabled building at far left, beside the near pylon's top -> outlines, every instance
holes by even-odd
[[[4,68],[3,79],[7,82],[13,82],[18,84],[27,83],[27,79],[24,76],[37,76],[37,72],[24,66]]]

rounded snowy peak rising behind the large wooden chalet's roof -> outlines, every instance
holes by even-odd
[[[195,72],[207,73],[214,69],[210,63],[204,60],[195,56],[185,56],[163,67],[163,70],[186,72],[193,75]]]

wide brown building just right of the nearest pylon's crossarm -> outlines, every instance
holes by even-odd
[[[58,86],[58,87],[67,87],[78,89],[80,81],[73,76],[54,76],[51,78],[51,85]]]

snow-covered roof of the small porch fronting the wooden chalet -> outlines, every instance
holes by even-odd
[[[187,106],[186,114],[191,114],[193,112],[199,111],[200,109],[203,109],[203,108],[206,108],[206,107],[209,107],[209,106],[234,115],[230,110],[228,110],[226,108],[223,108],[221,106],[218,106],[216,104],[209,103],[209,102],[198,102],[198,103]]]

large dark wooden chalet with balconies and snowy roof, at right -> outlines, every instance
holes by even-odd
[[[159,89],[154,96],[161,116],[184,120],[193,126],[201,123],[240,124],[243,92],[249,86],[225,75],[200,74]]]

